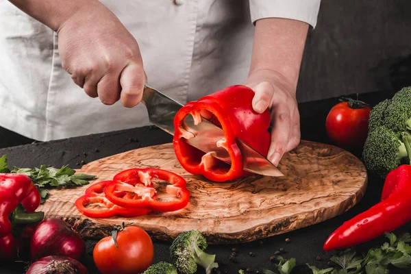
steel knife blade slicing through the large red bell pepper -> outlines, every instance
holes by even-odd
[[[150,123],[174,135],[174,116],[184,105],[167,97],[148,84],[145,85],[143,90],[141,103],[147,108]],[[215,153],[212,153],[214,158],[231,164],[228,151],[216,145],[217,141],[224,138],[223,129],[204,118],[202,118],[201,123],[195,125],[191,115],[186,117],[184,126],[186,130],[195,134],[194,138],[187,140],[190,145],[205,153],[214,151]],[[245,171],[271,177],[284,176],[273,163],[258,151],[238,138],[236,138],[236,142],[242,154],[242,166]]]

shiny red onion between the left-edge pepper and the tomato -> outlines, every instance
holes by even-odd
[[[66,222],[45,219],[33,234],[30,242],[32,261],[46,256],[66,256],[80,260],[86,252],[86,243]]]

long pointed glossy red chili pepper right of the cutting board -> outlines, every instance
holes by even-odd
[[[325,251],[344,249],[391,232],[411,220],[411,166],[401,165],[386,177],[381,201],[343,223],[325,241]]]

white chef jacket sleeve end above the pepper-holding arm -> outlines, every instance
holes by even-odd
[[[321,0],[250,0],[251,22],[262,18],[289,18],[315,28]]]

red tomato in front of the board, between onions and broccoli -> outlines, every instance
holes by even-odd
[[[117,233],[117,247],[112,236],[97,242],[93,259],[103,274],[142,273],[151,266],[154,247],[151,238],[140,227],[129,226]]]

